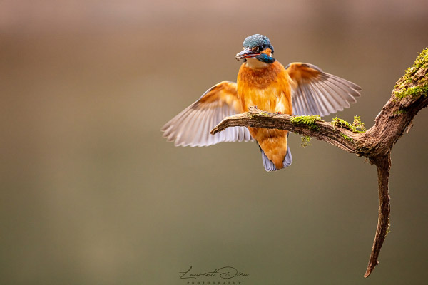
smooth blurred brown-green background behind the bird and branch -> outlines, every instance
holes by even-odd
[[[262,33],[286,65],[359,84],[370,128],[428,46],[414,1],[1,1],[0,284],[427,281],[427,110],[392,151],[391,233],[369,279],[374,166],[325,142],[263,170],[251,142],[174,147],[161,127]],[[330,120],[332,116],[325,118]],[[223,281],[200,278],[196,281]]]

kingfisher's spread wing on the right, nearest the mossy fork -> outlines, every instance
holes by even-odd
[[[350,108],[361,88],[343,78],[325,73],[310,63],[290,63],[292,109],[295,115],[328,115]]]

